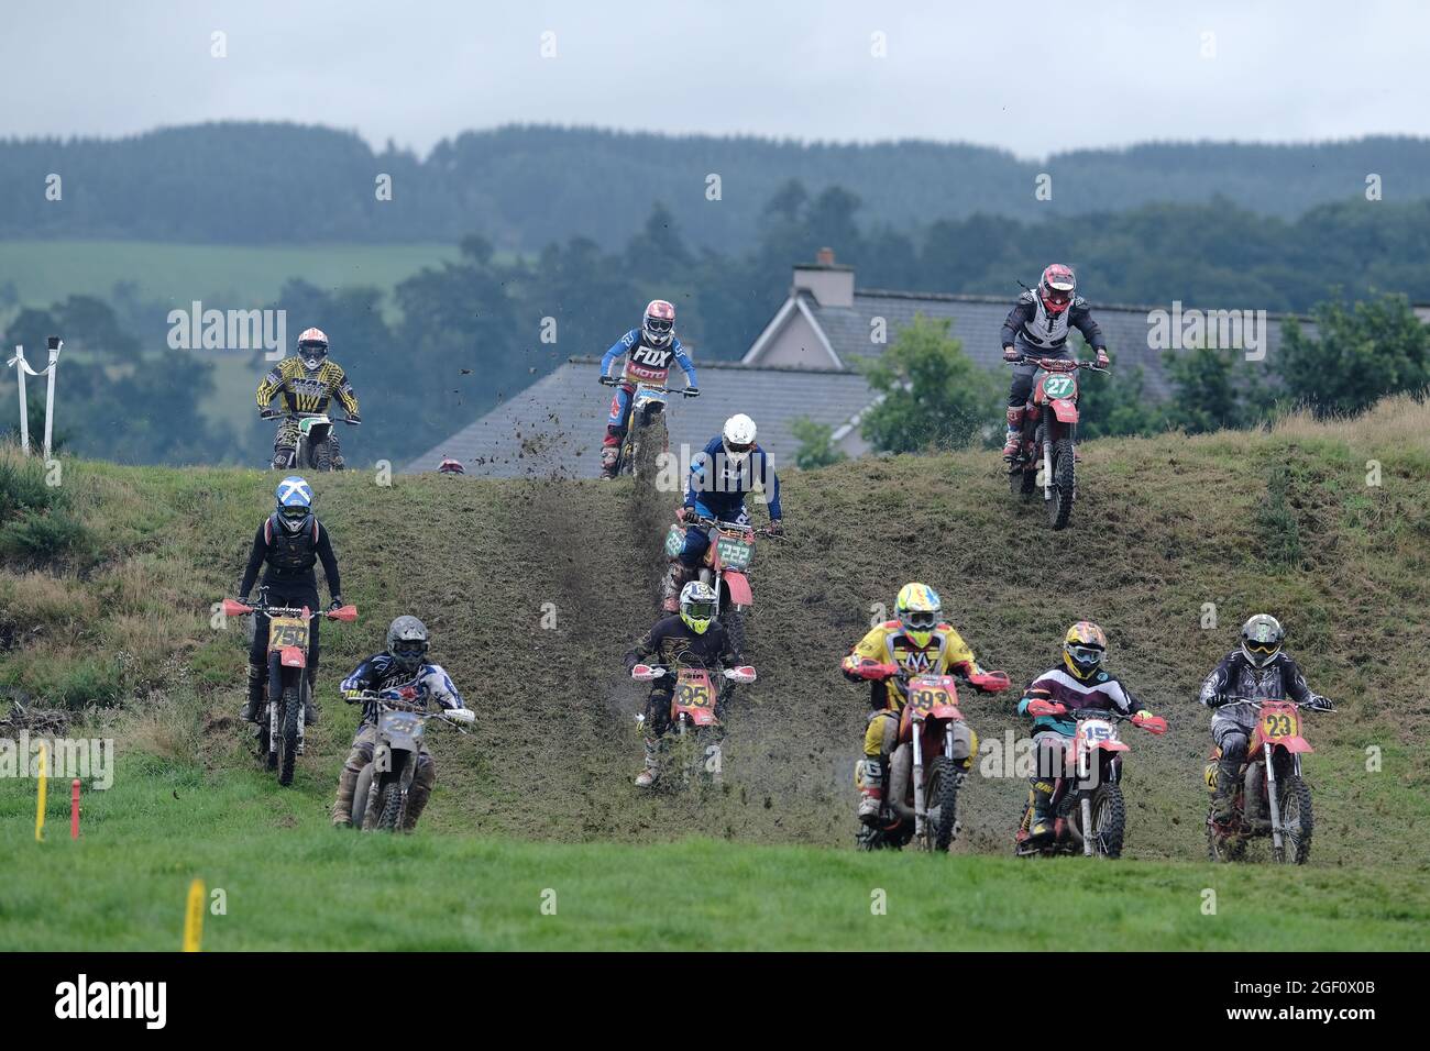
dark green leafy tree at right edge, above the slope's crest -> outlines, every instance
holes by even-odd
[[[1321,303],[1316,336],[1294,322],[1281,337],[1287,392],[1317,416],[1360,412],[1384,395],[1430,385],[1430,329],[1401,295],[1348,307]]]

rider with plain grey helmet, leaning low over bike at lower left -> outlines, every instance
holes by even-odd
[[[366,692],[382,694],[383,696],[403,696],[409,701],[436,701],[442,708],[465,708],[462,695],[452,685],[452,678],[442,665],[428,661],[428,646],[432,639],[428,628],[415,616],[399,616],[388,628],[388,648],[380,653],[373,653],[363,661],[353,673],[343,679],[343,701],[347,704],[362,704],[362,722],[353,736],[352,751],[343,772],[337,779],[337,798],[333,801],[333,825],[343,828],[352,825],[353,792],[358,788],[358,775],[362,768],[372,762],[373,748],[378,745],[378,705],[363,698]],[[438,769],[426,746],[418,756],[418,769],[412,778],[412,788],[408,794],[408,812],[402,828],[412,831],[418,818],[428,805],[432,786],[436,784]],[[365,821],[366,821],[365,815]],[[372,815],[376,819],[378,815]]]

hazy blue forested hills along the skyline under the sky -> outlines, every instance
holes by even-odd
[[[1051,199],[1038,200],[1042,173]],[[59,200],[47,199],[51,174]],[[1364,200],[1371,174],[1387,202],[1430,197],[1430,139],[1148,143],[1027,162],[962,143],[508,126],[465,132],[418,157],[390,144],[375,152],[330,127],[210,123],[124,139],[0,140],[0,237],[450,243],[479,232],[499,250],[533,252],[573,236],[623,243],[662,202],[691,245],[739,252],[789,179],[812,193],[842,186],[862,200],[867,226],[914,232],[977,213],[1037,222],[1213,197],[1291,219]],[[390,200],[378,199],[379,176],[390,177]]]

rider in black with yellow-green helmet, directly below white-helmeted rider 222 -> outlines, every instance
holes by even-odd
[[[671,728],[671,694],[679,668],[704,668],[718,676],[724,668],[741,666],[724,625],[715,619],[715,589],[704,581],[691,581],[681,589],[681,612],[655,622],[645,636],[625,655],[626,671],[636,665],[666,668],[668,673],[651,681],[645,702],[645,769],[636,776],[639,788],[649,788],[661,776],[661,738]],[[716,679],[719,698],[715,718],[722,718],[732,684]]]

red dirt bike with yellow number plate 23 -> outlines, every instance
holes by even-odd
[[[1241,698],[1240,702],[1257,706],[1256,729],[1247,745],[1247,761],[1237,776],[1231,819],[1220,824],[1211,808],[1207,809],[1207,855],[1211,861],[1241,861],[1247,842],[1271,837],[1271,861],[1304,865],[1311,857],[1316,818],[1311,814],[1311,786],[1301,779],[1301,755],[1316,749],[1301,736],[1301,709],[1293,701],[1270,698]],[[1211,749],[1205,769],[1211,792],[1217,791],[1220,758],[1221,748]],[[1246,799],[1250,792],[1257,794],[1260,811],[1270,815],[1268,828],[1247,821]]]

